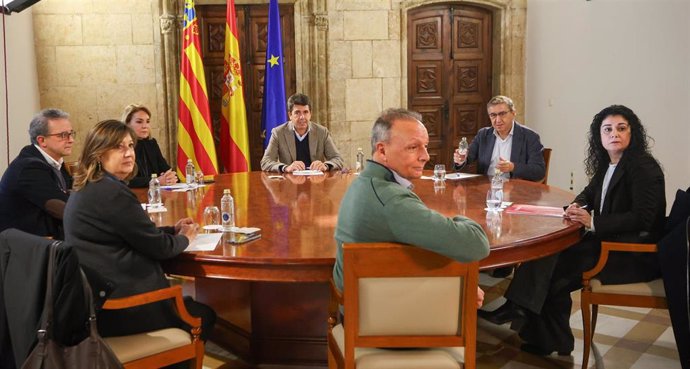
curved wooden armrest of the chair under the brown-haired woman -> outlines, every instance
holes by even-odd
[[[116,299],[108,299],[103,304],[104,310],[119,310],[126,309],[134,306],[151,304],[154,302],[175,299],[175,308],[177,308],[178,314],[180,314],[180,319],[192,327],[193,334],[201,333],[201,318],[194,317],[189,314],[187,308],[184,306],[184,300],[182,299],[182,287],[172,286],[168,288],[161,288],[159,290],[140,293],[138,295],[132,295]],[[199,333],[195,330],[198,329]]]

